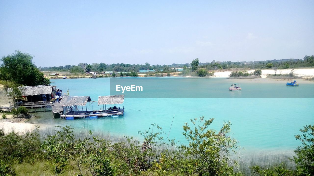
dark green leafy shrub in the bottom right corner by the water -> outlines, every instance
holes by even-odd
[[[296,170],[299,175],[314,175],[314,125],[307,125],[300,129],[302,135],[295,135],[295,138],[302,142],[293,157]]]

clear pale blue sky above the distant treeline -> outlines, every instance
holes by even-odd
[[[314,1],[3,1],[0,56],[37,66],[303,59]]]

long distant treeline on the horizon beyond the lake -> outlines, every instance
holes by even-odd
[[[231,68],[250,68],[250,69],[288,69],[288,68],[300,68],[300,67],[313,67],[314,59],[313,55],[305,56],[304,59],[282,59],[282,60],[266,60],[266,61],[215,61],[208,63],[199,63],[199,68],[206,68],[207,70],[217,69],[231,69]],[[131,64],[105,64],[105,63],[93,63],[78,65],[65,65],[59,67],[41,67],[41,71],[70,71],[71,73],[84,73],[89,71],[115,71],[115,72],[131,72],[139,70],[163,70],[164,72],[172,71],[170,68],[188,68],[191,64],[171,64],[171,65],[150,65],[146,62],[145,65],[131,65]]]

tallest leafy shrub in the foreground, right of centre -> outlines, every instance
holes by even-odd
[[[208,129],[214,118],[206,120],[204,116],[191,119],[192,127],[185,123],[184,137],[189,145],[181,145],[187,156],[187,170],[198,175],[227,175],[233,173],[230,166],[229,151],[237,148],[237,141],[227,134],[230,132],[230,122],[224,123],[219,132]],[[235,163],[234,163],[235,164]]]

